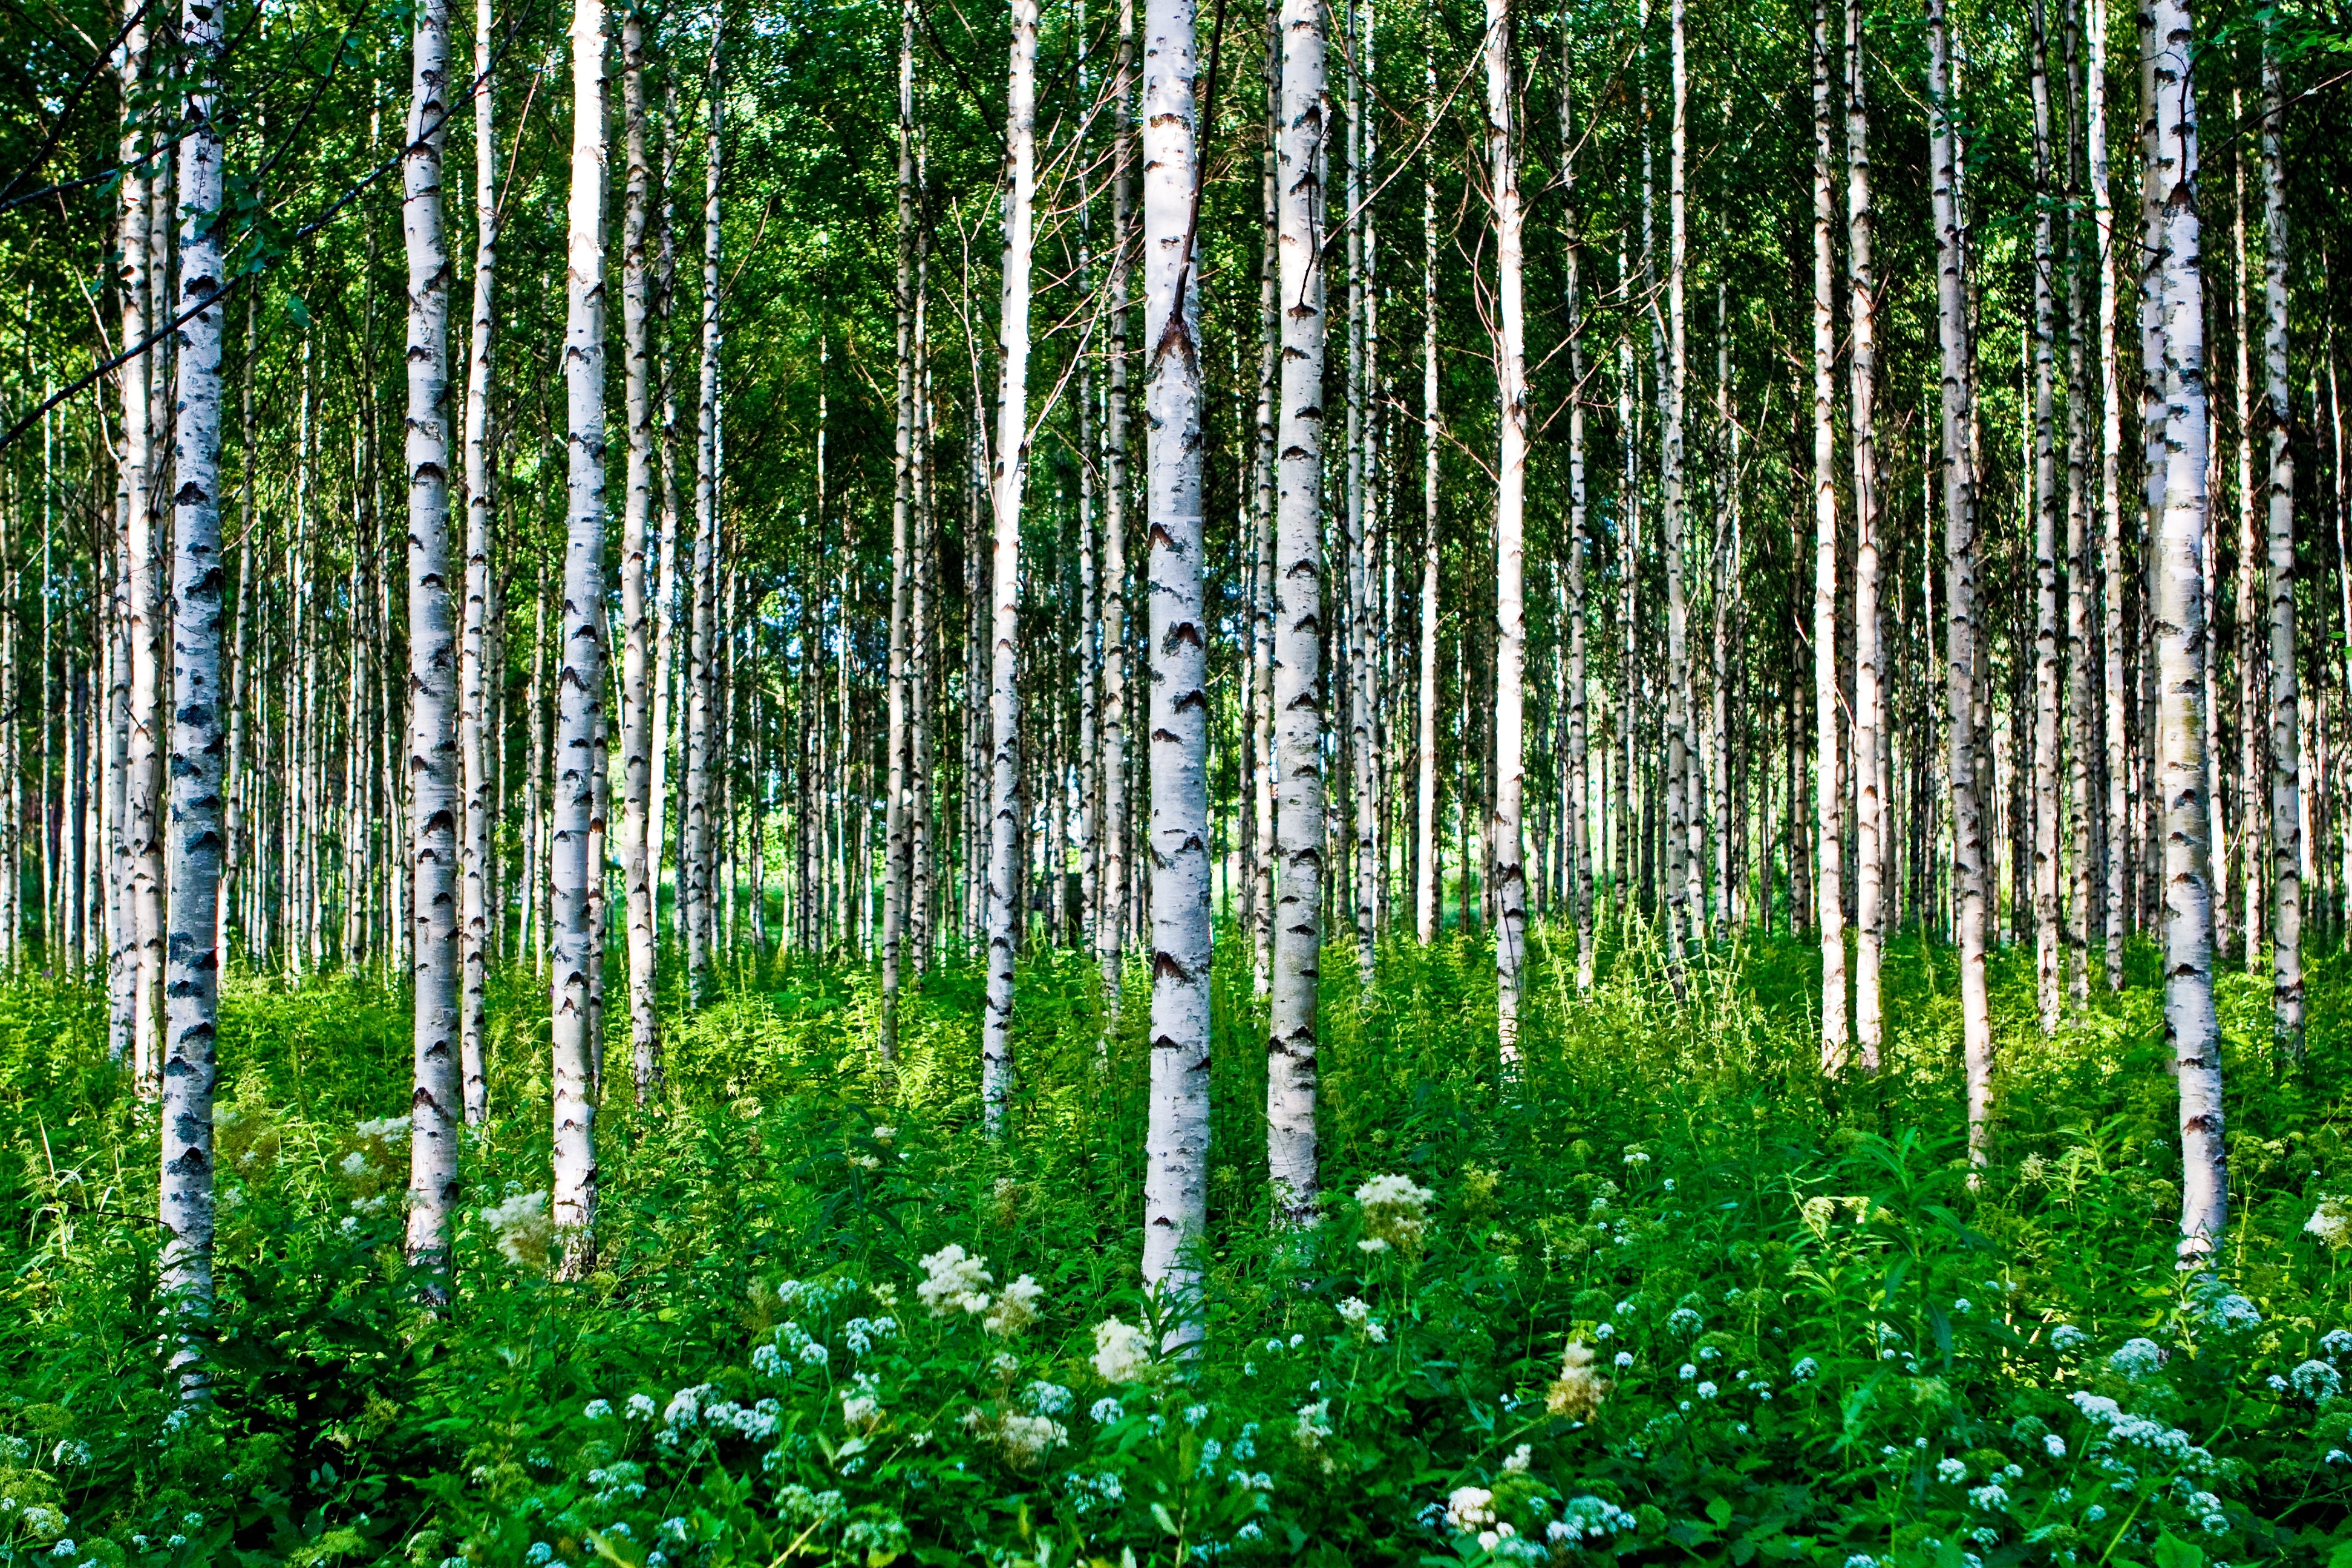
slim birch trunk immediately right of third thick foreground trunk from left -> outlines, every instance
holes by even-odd
[[[661,1053],[656,964],[661,839],[654,837],[654,604],[647,529],[654,520],[652,268],[644,254],[652,167],[644,150],[644,16],[621,21],[621,122],[628,193],[621,209],[621,360],[628,418],[628,501],[621,512],[621,886],[628,905],[628,1044],[640,1095]]]

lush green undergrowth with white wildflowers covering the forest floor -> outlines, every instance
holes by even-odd
[[[2173,1265],[2154,954],[2056,1041],[1994,959],[1971,1182],[1955,964],[1898,943],[1889,1065],[1828,1081],[1818,964],[1750,940],[1684,1006],[1538,933],[1524,1070],[1491,950],[1324,964],[1327,1220],[1268,1227],[1265,1056],[1221,943],[1207,1333],[1138,1333],[1145,976],[1101,1051],[1023,966],[978,1131],[981,978],[873,1053],[868,971],[769,964],[614,1027],[597,1272],[548,1276],[543,992],[496,987],[456,1291],[400,1260],[409,1030],[360,980],[235,978],[209,1401],[174,1410],[153,1110],[80,985],[0,990],[0,1563],[1472,1563],[2352,1568],[2352,964],[2310,1058],[2223,978],[2232,1218]],[[1569,959],[1569,961],[1562,961]],[[616,1018],[619,1023],[619,1018]],[[1388,1180],[1383,1180],[1388,1178]]]

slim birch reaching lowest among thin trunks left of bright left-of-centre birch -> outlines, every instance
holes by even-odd
[[[882,879],[882,1060],[898,1056],[898,985],[910,882],[906,811],[908,611],[915,527],[915,2],[898,19],[898,435],[891,468],[889,548],[889,799]]]

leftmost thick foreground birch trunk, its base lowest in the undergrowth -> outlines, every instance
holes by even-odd
[[[214,120],[221,19],[202,0],[181,9],[179,73],[188,89],[179,125],[179,369],[174,421],[172,597],[172,973],[165,1020],[162,1258],[155,1286],[183,1324],[172,1363],[181,1394],[200,1387],[195,1324],[212,1314],[212,1086],[219,1077],[221,952],[221,289],[226,181]],[[16,788],[16,780],[9,780]],[[9,867],[14,875],[14,865]]]

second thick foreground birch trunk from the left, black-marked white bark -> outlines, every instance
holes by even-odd
[[[405,202],[409,259],[409,853],[414,910],[414,1077],[409,1105],[409,1265],[445,1274],[456,1206],[456,635],[449,623],[449,244],[442,148],[449,141],[449,0],[414,12]],[[172,879],[174,889],[179,877]],[[445,1288],[430,1286],[440,1300]]]

